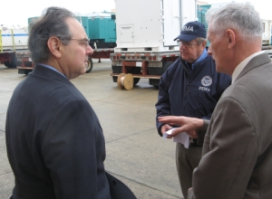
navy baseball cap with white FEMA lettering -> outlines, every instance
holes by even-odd
[[[180,35],[175,38],[174,41],[181,40],[190,42],[197,37],[206,38],[206,29],[204,24],[201,24],[198,21],[189,22],[183,26]]]

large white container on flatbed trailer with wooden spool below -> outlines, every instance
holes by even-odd
[[[180,57],[173,41],[182,26],[197,21],[195,0],[115,0],[116,48],[112,79],[131,90],[141,78],[158,87],[161,74]]]

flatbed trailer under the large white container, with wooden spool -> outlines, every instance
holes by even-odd
[[[112,81],[120,89],[131,90],[141,78],[158,88],[160,76],[180,57],[179,51],[173,52],[136,52],[111,54]]]

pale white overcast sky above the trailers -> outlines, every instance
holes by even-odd
[[[127,0],[131,1],[131,0]],[[136,0],[137,1],[137,0]],[[148,1],[148,0],[147,0]],[[159,1],[159,0],[158,0]],[[233,0],[200,0],[208,4],[228,3]],[[236,0],[245,2],[245,0]],[[270,0],[248,0],[257,9],[262,19],[272,20],[272,1]],[[27,26],[30,17],[40,16],[43,10],[49,6],[62,6],[71,10],[74,14],[89,14],[93,12],[111,12],[115,8],[114,0],[6,0],[0,10],[0,24],[6,26]],[[270,9],[270,11],[269,11]]]

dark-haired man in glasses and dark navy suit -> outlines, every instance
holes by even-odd
[[[49,7],[28,46],[34,71],[15,88],[6,116],[13,199],[111,198],[99,119],[69,81],[85,73],[92,53],[82,24]]]

